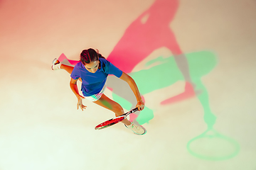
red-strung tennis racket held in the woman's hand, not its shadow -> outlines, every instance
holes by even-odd
[[[134,112],[136,112],[136,111],[139,111],[139,109],[138,109],[138,108],[134,108],[134,109],[132,109],[132,111],[129,111],[129,112],[127,112],[127,113],[124,113],[123,115],[119,115],[119,116],[116,117],[116,118],[112,118],[112,119],[110,119],[110,120],[105,121],[104,123],[100,123],[100,125],[97,125],[97,126],[95,127],[95,130],[104,129],[104,128],[110,127],[110,126],[112,126],[112,125],[114,125],[114,124],[117,124],[117,123],[121,122],[122,120],[124,120],[125,118],[127,118],[127,116],[128,116],[129,114],[134,113]]]

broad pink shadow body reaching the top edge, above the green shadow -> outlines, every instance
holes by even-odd
[[[168,47],[174,55],[182,54],[170,28],[177,8],[178,0],[156,0],[127,28],[107,60],[123,72],[130,73],[160,47]]]

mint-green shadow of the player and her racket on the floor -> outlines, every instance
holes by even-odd
[[[204,122],[208,126],[206,132],[203,132],[188,142],[188,152],[194,157],[213,161],[235,157],[240,150],[238,142],[213,130],[216,116],[210,110],[208,91],[201,80],[217,64],[215,54],[208,51],[193,52],[186,54],[186,60],[189,67],[188,74],[191,77],[191,82],[189,83],[193,85],[195,96],[203,107]],[[153,66],[150,67],[151,65]],[[178,65],[174,57],[158,57],[145,64],[145,67],[149,67],[149,69],[142,69],[139,72],[132,72],[129,75],[136,81],[142,95],[149,94],[152,91],[171,86],[176,81],[185,81],[184,75],[181,73],[181,69],[183,69],[181,68],[182,64],[180,63]],[[184,66],[186,67],[186,64]],[[183,97],[183,100],[186,100],[186,95]],[[129,101],[117,96],[117,94],[113,94],[113,98],[115,101],[122,103],[121,105],[127,110],[131,109],[132,103]],[[157,102],[160,103],[161,101]],[[144,123],[149,123],[149,120],[153,118],[153,109],[150,106],[146,106],[139,113],[137,122],[143,125]]]

